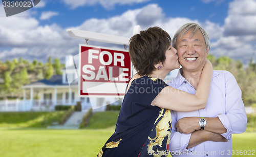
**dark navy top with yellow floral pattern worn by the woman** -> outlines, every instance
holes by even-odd
[[[98,153],[101,156],[167,156],[172,128],[169,109],[151,102],[167,86],[161,79],[134,79],[124,96],[113,135]]]

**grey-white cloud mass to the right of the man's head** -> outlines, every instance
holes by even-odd
[[[223,26],[207,22],[203,27],[211,42],[210,53],[229,56],[247,64],[256,54],[256,1],[234,0],[229,3],[228,16]]]

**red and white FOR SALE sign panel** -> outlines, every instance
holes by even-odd
[[[128,50],[79,44],[80,97],[120,97],[132,77]]]

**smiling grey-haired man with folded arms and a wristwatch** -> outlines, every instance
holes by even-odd
[[[196,23],[183,25],[173,38],[182,65],[167,84],[195,94],[210,49],[205,30]],[[172,111],[169,150],[173,156],[231,156],[232,133],[246,130],[247,118],[241,89],[227,71],[214,71],[205,109]]]

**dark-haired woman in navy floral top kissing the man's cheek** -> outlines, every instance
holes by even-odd
[[[170,110],[205,108],[212,78],[206,61],[195,95],[164,83],[167,74],[180,68],[177,50],[159,27],[140,31],[130,39],[129,53],[137,71],[127,84],[113,135],[100,156],[167,156],[172,118]]]

